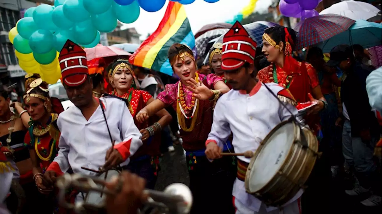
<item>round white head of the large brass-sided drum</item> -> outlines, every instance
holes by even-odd
[[[281,124],[280,124],[281,125]],[[251,160],[247,191],[255,193],[267,185],[279,171],[295,140],[295,124],[285,123],[275,127],[264,139],[264,146],[259,147],[258,155]],[[247,172],[248,173],[248,172]]]

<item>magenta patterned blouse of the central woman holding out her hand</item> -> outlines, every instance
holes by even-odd
[[[206,75],[199,74],[199,79],[203,80]],[[214,85],[216,82],[223,81],[223,79],[215,74],[208,74],[206,77],[207,87],[210,89],[214,89]],[[180,80],[175,84],[167,84],[165,85],[165,90],[160,92],[157,99],[165,103],[166,105],[171,105],[176,110],[176,98],[178,97],[178,84]],[[186,87],[183,87],[183,91],[186,93],[185,102],[186,105],[191,105],[192,92],[188,90]],[[192,111],[192,110],[190,110]],[[190,111],[185,110],[185,113],[188,114]]]

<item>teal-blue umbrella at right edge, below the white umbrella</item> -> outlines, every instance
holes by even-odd
[[[329,53],[333,47],[340,44],[358,44],[363,48],[382,45],[382,24],[358,20],[347,31],[317,44],[317,47],[324,53]]]

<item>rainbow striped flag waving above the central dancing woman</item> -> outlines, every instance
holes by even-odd
[[[165,15],[158,28],[130,56],[129,61],[154,71],[172,75],[173,71],[168,61],[168,49],[173,43],[195,47],[195,37],[191,31],[185,7],[178,2],[169,2]]]

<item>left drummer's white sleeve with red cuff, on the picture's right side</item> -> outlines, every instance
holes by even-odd
[[[124,160],[132,156],[140,146],[142,146],[142,134],[134,124],[133,116],[125,103],[121,106],[121,121],[119,122],[119,129],[123,142],[114,146],[116,150],[122,155]]]

